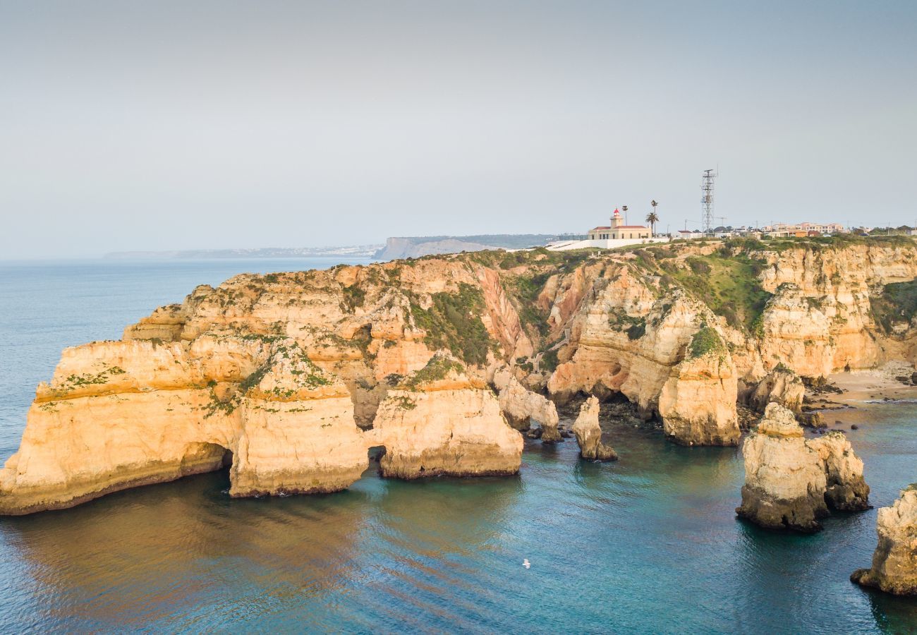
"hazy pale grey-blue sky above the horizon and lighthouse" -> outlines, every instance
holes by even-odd
[[[917,2],[0,0],[0,258],[914,223]]]

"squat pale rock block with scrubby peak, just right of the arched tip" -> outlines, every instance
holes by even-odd
[[[389,391],[367,434],[385,448],[384,476],[514,474],[522,462],[522,435],[497,398],[444,354]]]

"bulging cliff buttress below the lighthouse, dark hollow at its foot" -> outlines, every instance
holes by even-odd
[[[738,380],[714,317],[679,290],[663,295],[655,284],[628,268],[606,269],[573,317],[574,352],[548,390],[560,401],[621,393],[644,418],[662,418],[672,440],[735,445]]]

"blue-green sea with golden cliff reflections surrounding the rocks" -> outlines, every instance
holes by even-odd
[[[117,339],[196,284],[334,263],[0,262],[0,459],[63,347]],[[874,505],[917,481],[915,405],[835,418]],[[917,601],[848,580],[870,562],[875,509],[813,536],[757,529],[735,518],[735,448],[609,425],[619,462],[526,441],[513,478],[370,468],[335,495],[233,500],[221,472],[0,518],[0,631],[917,631]]]

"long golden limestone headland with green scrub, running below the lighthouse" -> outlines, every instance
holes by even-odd
[[[740,386],[745,398],[764,382],[768,400],[793,402],[793,383],[768,380],[781,364],[820,377],[917,359],[914,316],[896,300],[915,275],[914,243],[896,237],[482,251],[238,275],[156,309],[123,340],[64,351],[0,470],[0,512],[67,507],[225,462],[234,496],[341,489],[380,444],[377,428],[395,425],[405,378],[441,351],[469,385],[508,369],[519,385],[503,411],[519,427],[529,413],[547,440],[559,435],[553,404],[534,392],[546,388],[558,402],[626,398],[679,443],[735,444]],[[455,456],[467,458],[447,467],[440,433],[417,419],[405,467],[390,473],[414,473],[425,451],[443,473],[514,471],[516,437],[494,441],[485,467],[468,427],[496,402],[482,389],[456,388],[467,417],[431,419],[431,430],[465,430],[456,438],[469,451]],[[434,393],[417,392],[417,407]]]

